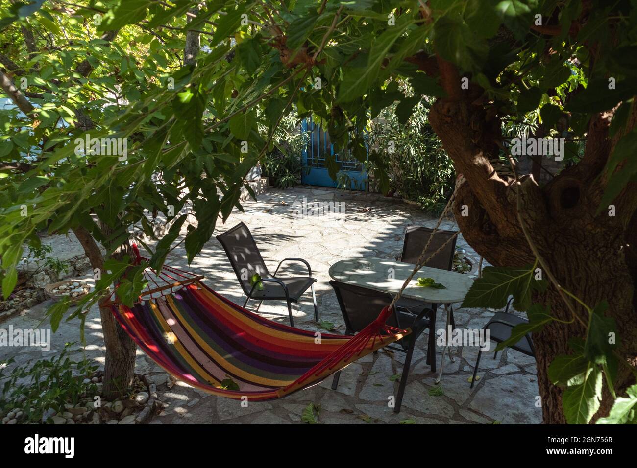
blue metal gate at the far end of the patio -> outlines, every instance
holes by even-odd
[[[320,187],[336,187],[338,183],[329,176],[325,167],[326,155],[334,155],[334,145],[329,141],[329,134],[315,124],[311,117],[301,121],[301,131],[309,136],[308,144],[303,148],[305,169],[301,174],[301,182]],[[340,166],[340,171],[347,174],[350,188],[352,190],[365,190],[368,174],[361,162],[350,155],[341,157],[340,154],[336,153],[334,157]]]

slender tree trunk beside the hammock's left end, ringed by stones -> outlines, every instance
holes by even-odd
[[[73,230],[84,252],[89,257],[93,269],[104,271],[104,257],[99,250],[93,236],[85,227]],[[104,390],[103,397],[115,399],[124,395],[125,390],[132,384],[135,370],[135,352],[137,346],[115,319],[108,306],[107,299],[99,301],[99,315],[102,321],[104,345],[106,346],[106,361],[104,362]]]

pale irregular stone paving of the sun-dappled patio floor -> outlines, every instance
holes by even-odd
[[[345,203],[345,213],[334,216],[292,215],[295,201],[334,200]],[[320,197],[320,199],[318,198]],[[409,224],[433,227],[436,219],[418,207],[396,202],[378,195],[361,193],[345,194],[336,190],[299,187],[292,190],[268,190],[259,195],[258,201],[243,203],[244,213],[234,211],[224,225],[218,225],[219,234],[236,223],[245,222],[261,249],[269,268],[285,257],[301,257],[312,267],[317,278],[315,290],[321,320],[332,322],[333,333],[344,333],[345,325],[338,302],[329,286],[327,271],[338,260],[355,257],[380,257],[396,259],[403,242],[404,229]],[[445,220],[443,229],[457,229],[453,220]],[[182,235],[185,234],[185,230]],[[475,260],[479,255],[462,239],[457,246]],[[231,301],[243,305],[245,296],[223,248],[211,239],[192,262],[187,265],[183,245],[171,252],[166,264],[187,268],[206,276],[206,284]],[[289,264],[288,274],[304,274],[303,266]],[[87,272],[88,274],[88,272]],[[43,302],[19,316],[10,318],[14,327],[33,328],[44,317],[51,302]],[[248,308],[256,302],[248,304]],[[281,323],[288,323],[287,308],[283,302],[269,301],[259,310],[262,316]],[[462,327],[480,327],[494,311],[454,308],[457,324]],[[294,304],[295,325],[302,329],[324,330],[314,322],[311,295]],[[445,323],[442,311],[436,318],[439,328]],[[6,327],[7,322],[0,323]],[[79,341],[78,323],[62,322],[53,336],[52,349],[59,351],[66,341]],[[88,357],[98,364],[104,363],[104,343],[101,334],[99,312],[90,311],[86,327]],[[240,401],[222,399],[178,382],[172,388],[166,385],[167,374],[150,358],[138,350],[136,369],[148,372],[157,385],[159,399],[168,406],[156,416],[154,424],[187,423],[303,423],[301,418],[308,405],[318,407],[318,422],[334,424],[399,423],[413,420],[416,423],[540,423],[541,409],[536,408],[538,394],[533,358],[506,350],[492,359],[493,353],[485,353],[480,361],[478,375],[482,378],[475,388],[469,388],[468,378],[473,374],[476,348],[454,348],[456,362],[445,358],[445,375],[441,381],[442,394],[434,388],[436,374],[426,364],[428,336],[424,333],[417,342],[399,415],[388,406],[389,397],[395,395],[403,372],[404,354],[400,351],[380,351],[368,355],[348,366],[342,373],[336,391],[331,390],[332,379],[320,385],[297,392],[276,401],[248,402],[247,408]],[[492,343],[494,345],[494,343]],[[440,366],[441,349],[436,353]],[[41,358],[45,353],[33,348],[0,348],[0,359],[17,358],[20,364],[29,359]],[[47,356],[48,357],[48,356]]]

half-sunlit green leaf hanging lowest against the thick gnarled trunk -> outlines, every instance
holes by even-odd
[[[562,394],[562,408],[568,424],[588,424],[599,409],[602,374],[589,362],[578,385],[571,385]]]

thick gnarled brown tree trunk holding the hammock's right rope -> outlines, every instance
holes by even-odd
[[[441,69],[443,66],[445,63],[441,62]],[[634,383],[630,367],[634,369],[637,364],[637,255],[631,247],[637,241],[637,201],[636,186],[629,184],[613,201],[616,214],[611,215],[608,210],[597,213],[605,190],[604,178],[599,174],[619,138],[608,136],[610,114],[601,113],[591,120],[582,162],[564,169],[543,186],[533,176],[522,176],[518,183],[512,178],[500,178],[490,164],[490,159],[498,155],[493,142],[499,139],[501,124],[496,115],[474,106],[471,96],[460,96],[455,89],[457,77],[452,73],[448,76],[450,97],[439,99],[432,106],[429,122],[454,161],[457,173],[466,178],[457,188],[454,202],[455,218],[464,239],[494,266],[533,264],[535,251],[559,285],[587,306],[594,308],[607,301],[605,315],[617,324],[616,351],[624,361],[619,365],[615,391],[624,396],[627,386]],[[637,123],[637,113],[630,120],[628,129]],[[468,216],[462,216],[462,211],[467,210]],[[543,278],[548,279],[546,271]],[[548,365],[557,355],[571,353],[570,339],[585,338],[584,324],[589,315],[583,306],[568,298],[579,318],[574,319],[552,283],[546,292],[534,294],[533,299],[550,306],[551,315],[558,320],[568,322],[550,322],[533,334],[543,420],[549,424],[565,423],[563,389],[548,379]],[[593,422],[608,415],[613,403],[607,386],[603,388],[601,406]]]

